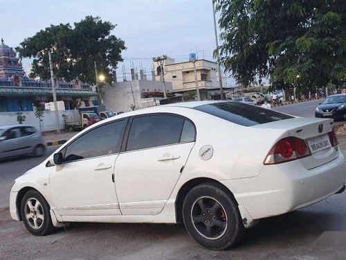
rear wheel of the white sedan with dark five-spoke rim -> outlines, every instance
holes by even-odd
[[[237,202],[214,183],[191,189],[183,202],[183,221],[192,239],[212,250],[236,245],[245,230]]]

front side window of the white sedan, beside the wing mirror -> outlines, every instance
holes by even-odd
[[[67,146],[64,162],[118,153],[124,128],[125,120],[122,120],[86,132]]]

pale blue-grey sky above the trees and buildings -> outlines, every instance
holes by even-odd
[[[152,58],[163,54],[176,62],[188,61],[190,52],[215,60],[211,0],[0,0],[0,10],[0,37],[12,47],[51,24],[73,24],[87,15],[117,24],[112,34],[125,41],[122,58],[127,76],[131,62],[138,73],[140,62],[151,71]],[[31,61],[23,60],[26,71]],[[122,63],[118,67],[122,80]]]

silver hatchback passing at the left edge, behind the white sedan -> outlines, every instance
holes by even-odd
[[[33,125],[0,126],[0,159],[17,155],[44,155],[44,140]]]

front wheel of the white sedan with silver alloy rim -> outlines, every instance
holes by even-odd
[[[21,200],[21,219],[28,232],[44,236],[55,230],[49,210],[48,202],[39,192],[32,189],[24,194]]]

